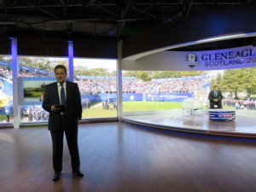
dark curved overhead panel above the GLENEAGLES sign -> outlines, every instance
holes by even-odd
[[[200,15],[153,27],[123,41],[123,57],[203,38],[256,32],[255,3],[239,8],[213,9]]]

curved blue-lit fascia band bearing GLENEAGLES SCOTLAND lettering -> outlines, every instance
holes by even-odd
[[[207,51],[160,51],[137,60],[122,60],[127,71],[212,71],[256,67],[256,47]]]

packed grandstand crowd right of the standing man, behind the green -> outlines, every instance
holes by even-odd
[[[76,79],[82,95],[116,93],[115,79]],[[196,79],[163,79],[158,81],[142,81],[140,79],[123,79],[124,93],[189,93],[200,90],[209,84],[208,78]]]

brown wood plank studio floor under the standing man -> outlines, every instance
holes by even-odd
[[[255,192],[256,143],[172,135],[125,123],[79,125],[83,178],[52,182],[46,127],[0,129],[0,192]]]

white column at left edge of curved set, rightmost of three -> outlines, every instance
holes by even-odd
[[[118,118],[123,116],[123,92],[122,92],[122,41],[118,42],[118,63],[117,63],[117,90],[118,90]]]

